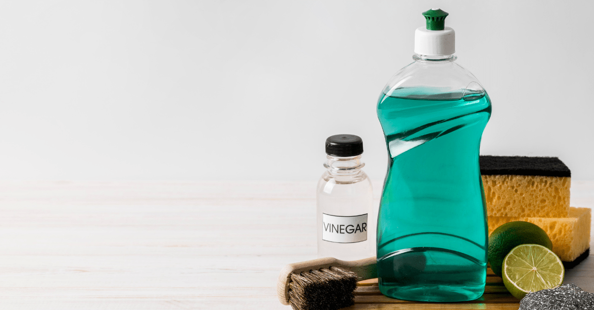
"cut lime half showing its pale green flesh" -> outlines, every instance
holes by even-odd
[[[538,244],[513,248],[503,260],[503,284],[511,295],[522,299],[527,293],[563,284],[565,269],[555,253]]]

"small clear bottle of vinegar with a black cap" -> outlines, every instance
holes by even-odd
[[[371,181],[361,170],[362,153],[358,136],[326,140],[327,171],[317,187],[318,257],[359,260],[375,255],[377,211]]]

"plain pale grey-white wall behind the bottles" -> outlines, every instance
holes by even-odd
[[[481,153],[559,156],[594,180],[593,1],[4,1],[0,178],[314,180],[364,140],[440,7],[493,103]]]

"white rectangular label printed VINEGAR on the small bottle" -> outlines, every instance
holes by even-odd
[[[322,239],[353,243],[367,239],[367,215],[337,216],[322,213]]]

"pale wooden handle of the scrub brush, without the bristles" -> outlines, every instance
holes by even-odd
[[[279,295],[279,301],[283,305],[289,304],[289,282],[291,274],[299,274],[302,271],[320,270],[322,268],[341,267],[353,271],[359,276],[359,281],[377,278],[377,268],[375,267],[375,257],[363,258],[362,260],[344,261],[333,257],[318,258],[317,260],[301,261],[299,263],[288,264],[280,270],[279,282],[276,285],[276,292]]]

